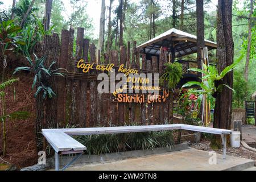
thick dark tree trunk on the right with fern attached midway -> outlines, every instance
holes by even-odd
[[[218,0],[217,13],[217,60],[218,71],[222,72],[234,62],[234,42],[232,36],[232,1]],[[228,73],[219,84],[233,88],[233,72]],[[216,96],[213,126],[220,129],[230,129],[232,119],[233,91],[224,88]]]

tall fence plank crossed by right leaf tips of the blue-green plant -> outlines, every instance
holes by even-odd
[[[69,41],[69,31],[61,31],[61,43],[60,43],[60,59],[58,65],[60,68],[67,68],[68,64],[68,41]],[[63,123],[65,121],[65,96],[67,88],[64,86],[67,82],[65,78],[57,78],[57,123]],[[63,90],[64,89],[64,90]]]

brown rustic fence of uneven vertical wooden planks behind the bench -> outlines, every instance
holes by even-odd
[[[162,103],[119,103],[113,100],[113,94],[99,94],[97,92],[98,71],[91,70],[82,73],[76,67],[76,61],[84,59],[89,63],[114,65],[124,64],[128,68],[135,68],[140,73],[164,72],[164,63],[167,63],[167,52],[161,49],[160,59],[152,57],[146,60],[136,48],[136,42],[130,50],[122,46],[119,51],[100,54],[94,44],[84,39],[84,28],[77,29],[76,51],[73,52],[74,29],[63,30],[61,39],[54,34],[46,36],[43,42],[42,55],[47,56],[47,64],[57,60],[56,67],[67,69],[65,78],[54,77],[51,80],[56,97],[44,101],[44,109],[38,114],[38,131],[43,128],[55,128],[57,123],[64,125],[78,125],[79,127],[122,126],[133,124],[163,124],[170,123],[173,106],[170,99]],[[96,56],[97,55],[97,56]],[[40,102],[37,103],[40,105]],[[43,105],[41,106],[43,107]],[[40,107],[39,107],[40,108]]]

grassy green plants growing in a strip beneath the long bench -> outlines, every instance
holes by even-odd
[[[74,138],[87,147],[86,153],[89,155],[174,146],[171,131],[89,135]]]

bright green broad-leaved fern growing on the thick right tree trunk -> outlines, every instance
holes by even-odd
[[[208,67],[205,64],[204,64],[204,70],[191,68],[189,69],[189,71],[200,72],[205,75],[202,77],[203,81],[202,82],[189,81],[187,84],[184,84],[182,87],[187,88],[191,86],[199,86],[202,90],[193,90],[192,92],[197,95],[210,94],[213,97],[216,97],[216,94],[222,92],[222,89],[224,87],[234,91],[234,89],[230,88],[229,85],[222,84],[222,80],[229,72],[232,72],[234,70],[236,65],[237,63],[229,65],[220,74],[218,73],[218,70],[216,67],[213,67],[213,66]]]

